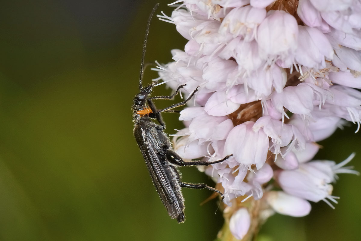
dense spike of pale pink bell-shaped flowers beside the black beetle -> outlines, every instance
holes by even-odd
[[[361,2],[359,0],[184,0],[171,14],[188,40],[184,51],[158,66],[159,79],[192,93],[180,115],[186,128],[175,138],[184,158],[208,156],[205,168],[224,189],[228,206],[243,196],[274,211],[304,216],[308,201],[331,207],[331,182],[354,173],[313,160],[317,141],[345,121],[361,124]],[[172,5],[172,4],[170,4]],[[271,178],[283,191],[273,191]],[[273,184],[274,186],[275,184]],[[307,201],[308,200],[308,201]],[[230,219],[242,238],[251,223],[247,208]],[[242,223],[242,225],[240,225]],[[240,228],[242,226],[242,228]]]

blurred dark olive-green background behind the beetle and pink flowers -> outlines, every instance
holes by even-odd
[[[160,1],[157,10],[171,13]],[[213,240],[222,214],[207,190],[184,190],[186,222],[165,211],[132,136],[144,30],[155,1],[1,1],[0,240]],[[147,63],[185,40],[153,19]],[[145,82],[157,74],[148,68]],[[170,93],[164,86],[158,93]],[[164,103],[157,104],[164,106]],[[168,105],[168,103],[165,103]],[[182,128],[165,115],[167,132]],[[318,158],[361,170],[356,126],[320,143]],[[341,141],[340,141],[341,140]],[[196,168],[183,180],[212,181]],[[259,240],[360,240],[360,177],[340,175],[332,210],[275,215]],[[215,214],[216,212],[216,214]]]

